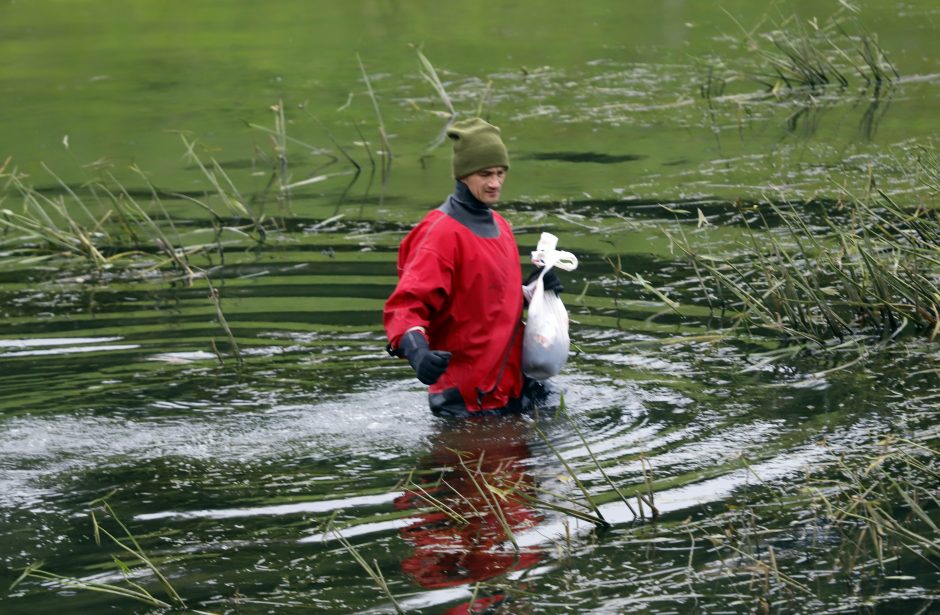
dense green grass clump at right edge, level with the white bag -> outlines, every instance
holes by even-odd
[[[714,290],[706,300],[746,326],[825,345],[857,336],[888,341],[908,328],[940,332],[940,219],[906,208],[880,189],[823,204],[742,205],[748,244],[731,256],[704,254],[681,230],[673,245]],[[817,212],[817,209],[819,210]],[[807,214],[823,226],[811,228]],[[775,228],[768,220],[782,222]]]

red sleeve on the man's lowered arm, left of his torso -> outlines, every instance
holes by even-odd
[[[450,296],[453,265],[434,245],[426,242],[407,255],[395,291],[385,302],[383,322],[391,349],[406,331],[429,328]]]

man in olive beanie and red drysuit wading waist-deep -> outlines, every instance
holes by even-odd
[[[456,122],[447,136],[456,188],[399,246],[398,286],[383,315],[388,350],[430,385],[435,413],[524,410],[533,386],[521,368],[519,250],[509,223],[492,209],[509,154],[499,129],[479,118]],[[553,270],[543,282],[560,292]]]

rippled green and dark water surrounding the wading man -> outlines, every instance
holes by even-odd
[[[457,608],[476,581],[478,598],[510,596],[509,613],[940,609],[936,550],[889,549],[879,565],[796,499],[839,477],[840,460],[864,468],[887,436],[937,449],[936,342],[904,336],[851,364],[858,350],[765,362],[778,340],[722,336],[727,321],[663,232],[738,251],[735,203],[835,203],[837,184],[862,193],[871,178],[906,205],[937,206],[912,159],[940,134],[940,10],[857,7],[860,21],[814,2],[4,2],[0,165],[9,156],[6,171],[49,198],[65,194],[61,179],[93,215],[104,205],[83,185],[120,183],[178,244],[211,244],[192,262],[210,272],[243,363],[204,280],[182,282],[152,242],[135,246],[150,255],[135,270],[96,272],[0,235],[0,610],[159,612],[38,581],[6,591],[39,560],[120,582],[88,518],[112,490],[177,591],[213,612],[391,612],[324,531],[333,514],[409,612]],[[742,29],[764,45],[794,12],[804,27],[838,12],[849,31],[876,32],[900,80],[875,95],[849,71],[844,90],[763,95]],[[499,209],[520,255],[542,231],[578,255],[563,276],[575,353],[558,384],[634,508],[652,468],[656,523],[634,520],[563,415],[444,423],[385,354],[397,244],[452,188],[446,148],[430,147],[445,106],[411,45],[459,113],[482,101],[502,127],[512,168]],[[384,181],[357,54],[389,137]],[[707,99],[710,70],[724,89]],[[292,139],[285,181],[328,176],[280,198],[265,191],[278,104]],[[263,241],[213,195],[181,135],[264,214]],[[181,194],[241,228],[222,232],[224,258],[211,217]],[[22,207],[9,186],[0,198]],[[618,257],[680,314],[618,279]],[[492,515],[469,529],[434,517],[402,481],[413,473],[469,514],[479,493],[455,449],[482,455],[494,483],[583,500],[554,449],[610,527],[517,503],[506,511],[516,554]],[[463,499],[437,483],[442,472]],[[716,536],[744,537],[733,544],[750,559]],[[768,546],[802,589],[765,580],[754,558],[769,561]],[[137,580],[159,592],[152,576]]]

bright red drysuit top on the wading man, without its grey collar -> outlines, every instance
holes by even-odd
[[[466,409],[502,408],[522,392],[522,272],[506,220],[493,212],[497,237],[481,237],[436,209],[402,240],[399,282],[385,303],[393,348],[424,327],[434,350],[453,353],[428,389],[459,389]],[[495,390],[489,392],[495,387]],[[478,390],[487,392],[480,397]]]

